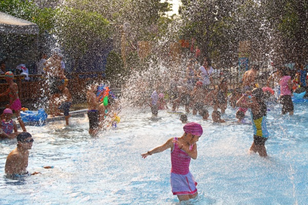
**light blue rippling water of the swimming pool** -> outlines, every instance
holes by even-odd
[[[190,163],[199,196],[189,204],[307,204],[307,108],[296,104],[292,117],[282,116],[279,106],[268,112],[267,159],[248,154],[252,128],[230,122],[235,110],[222,116],[226,126],[189,114],[204,130],[198,158]],[[159,111],[153,120],[149,109],[120,116],[117,130],[97,138],[89,136],[86,116],[71,118],[68,128],[64,121],[27,127],[35,140],[28,171],[42,174],[22,179],[5,177],[6,157],[16,142],[1,141],[0,204],[180,204],[171,193],[169,150],[141,158],[183,134],[180,116]]]

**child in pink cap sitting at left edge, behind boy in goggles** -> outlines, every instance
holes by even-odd
[[[9,108],[3,111],[4,119],[1,120],[0,138],[13,139],[17,134],[19,134],[17,132],[16,122],[12,120],[12,115],[13,111]]]

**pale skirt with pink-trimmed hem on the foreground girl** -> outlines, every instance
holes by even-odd
[[[175,174],[171,175],[171,188],[174,195],[195,194],[197,192],[197,182],[190,172],[188,174]]]

